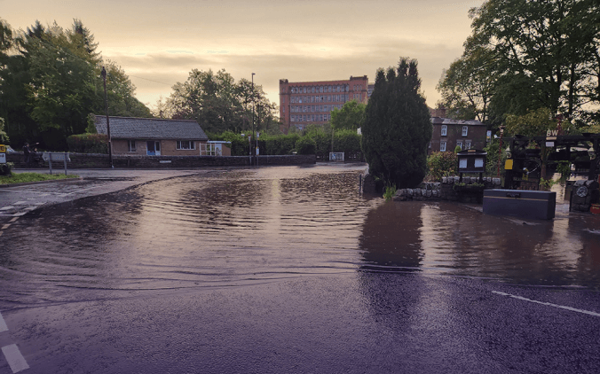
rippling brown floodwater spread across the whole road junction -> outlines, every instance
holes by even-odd
[[[363,171],[214,171],[39,209],[4,233],[0,309],[349,272],[600,289],[598,216],[385,202]]]

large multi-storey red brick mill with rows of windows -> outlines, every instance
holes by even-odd
[[[288,82],[280,79],[281,130],[304,129],[309,124],[322,125],[331,120],[331,111],[346,101],[367,103],[367,75],[351,76],[344,81]]]

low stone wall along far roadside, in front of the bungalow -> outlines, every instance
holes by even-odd
[[[108,168],[107,154],[69,153],[68,169]],[[14,168],[26,168],[23,152],[7,154],[7,161]],[[315,155],[258,156],[253,163],[258,166],[314,164]],[[114,155],[114,168],[206,168],[206,167],[247,167],[249,156],[142,156]],[[29,168],[48,168],[47,162],[32,163]],[[52,162],[52,168],[64,168],[62,162]]]

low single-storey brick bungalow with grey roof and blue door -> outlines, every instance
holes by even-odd
[[[226,142],[210,142],[190,120],[109,117],[113,154],[145,156],[231,156]],[[96,129],[107,134],[107,117],[96,115]]]

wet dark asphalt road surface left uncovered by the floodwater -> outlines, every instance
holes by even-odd
[[[218,172],[76,170],[83,179],[0,188],[0,232],[38,207]],[[600,372],[597,291],[414,271],[51,300],[0,316],[0,374]]]

